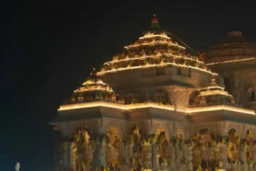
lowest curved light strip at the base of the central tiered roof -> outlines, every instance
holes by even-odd
[[[209,74],[212,74],[212,75],[218,75],[218,74],[215,74],[215,73],[212,73],[211,71],[208,71],[208,70],[204,70],[204,69],[201,69],[201,68],[198,68],[198,67],[194,67],[194,66],[186,66],[186,65],[180,65],[180,64],[176,64],[176,63],[160,63],[160,64],[147,64],[145,66],[129,66],[129,67],[126,67],[126,68],[118,68],[118,69],[112,69],[112,70],[104,70],[104,71],[100,71],[98,72],[97,74],[98,75],[103,75],[103,74],[107,74],[107,73],[115,73],[117,71],[121,71],[121,70],[134,70],[134,69],[146,69],[146,68],[151,68],[151,67],[157,67],[157,66],[181,66],[183,68],[191,68],[191,69],[194,69],[194,70],[201,70],[203,72],[206,72],[206,73],[209,73]]]

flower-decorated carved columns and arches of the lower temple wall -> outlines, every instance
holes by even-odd
[[[223,135],[199,128],[189,138],[184,129],[167,135],[159,127],[155,133],[146,134],[134,125],[122,138],[114,127],[105,133],[78,127],[72,139],[60,141],[57,170],[255,170],[254,128],[245,126],[240,132],[232,126],[227,124]]]

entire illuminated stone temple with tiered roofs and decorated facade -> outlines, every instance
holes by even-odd
[[[193,54],[151,18],[58,108],[55,171],[255,171],[256,43]]]

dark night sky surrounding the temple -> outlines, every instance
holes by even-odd
[[[153,14],[194,50],[206,50],[230,30],[256,42],[253,6],[59,0],[6,0],[1,6],[0,170],[13,170],[16,161],[22,171],[53,170],[47,122],[93,67],[142,34]]]

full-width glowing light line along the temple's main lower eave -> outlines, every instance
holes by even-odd
[[[155,108],[155,109],[166,109],[170,111],[174,111],[174,107],[172,105],[159,105],[158,103],[136,103],[130,105],[122,105],[118,103],[111,103],[106,101],[94,101],[94,102],[84,102],[84,103],[75,103],[69,105],[60,105],[58,111],[70,110],[70,109],[85,109],[85,108],[93,108],[93,107],[108,107],[114,109],[143,109],[143,108]],[[238,113],[246,113],[246,114],[255,114],[252,109],[243,109],[239,107],[235,107],[232,105],[208,105],[201,107],[191,107],[186,110],[177,110],[182,113],[199,113],[199,112],[207,112],[207,111],[215,111],[215,110],[229,110]]]

